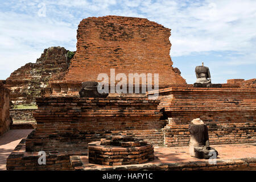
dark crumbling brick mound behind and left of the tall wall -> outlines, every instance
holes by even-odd
[[[10,101],[14,105],[35,105],[35,98],[41,96],[49,80],[67,71],[67,52],[64,47],[44,49],[36,63],[27,63],[11,73],[5,84],[10,89]]]

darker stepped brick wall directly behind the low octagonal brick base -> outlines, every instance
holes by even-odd
[[[44,97],[36,101],[37,127],[28,135],[27,151],[73,150],[74,147],[82,150],[88,142],[113,132],[152,139],[155,144],[163,141],[160,129],[166,123],[159,120],[159,101],[146,97]]]

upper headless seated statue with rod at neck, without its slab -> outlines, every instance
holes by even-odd
[[[197,66],[195,69],[195,72],[196,72],[196,83],[200,83],[200,84],[211,83],[209,68],[205,67],[204,63],[202,63],[201,66]]]

